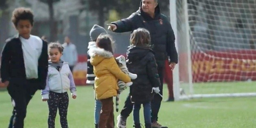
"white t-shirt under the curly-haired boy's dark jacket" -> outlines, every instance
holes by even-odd
[[[20,37],[24,57],[26,78],[38,78],[38,59],[43,48],[43,41],[37,36],[30,35],[28,39]]]

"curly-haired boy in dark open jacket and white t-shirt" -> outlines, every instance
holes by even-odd
[[[33,13],[28,8],[13,11],[11,21],[18,34],[7,39],[1,54],[1,82],[13,103],[9,128],[23,128],[26,109],[37,89],[44,89],[48,72],[47,42],[30,35]]]

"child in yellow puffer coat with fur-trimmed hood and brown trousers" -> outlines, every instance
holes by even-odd
[[[117,95],[117,80],[131,82],[128,75],[119,69],[113,56],[113,41],[108,35],[99,35],[96,48],[89,51],[95,74],[96,99],[102,102],[99,128],[114,128],[113,96]]]

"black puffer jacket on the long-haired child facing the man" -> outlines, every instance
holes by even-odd
[[[150,102],[154,93],[152,93],[152,87],[160,85],[154,52],[150,48],[129,46],[127,59],[126,65],[129,72],[137,74],[137,78],[132,80],[130,89],[132,102]]]

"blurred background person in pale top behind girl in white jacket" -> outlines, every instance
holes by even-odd
[[[69,64],[69,68],[71,72],[73,72],[73,68],[78,62],[76,46],[73,43],[71,43],[68,36],[65,37],[65,43],[63,43],[62,46],[64,50],[61,59]]]

